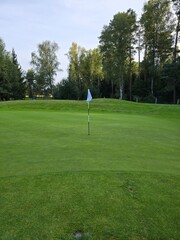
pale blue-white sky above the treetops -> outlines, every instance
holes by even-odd
[[[56,42],[63,70],[56,81],[67,77],[65,55],[72,42],[85,49],[98,46],[98,37],[118,12],[133,9],[138,17],[146,0],[0,0],[0,38],[6,50],[15,49],[23,70],[31,68],[31,53],[45,40]]]

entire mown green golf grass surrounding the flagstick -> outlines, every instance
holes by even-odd
[[[0,102],[0,239],[179,239],[179,105],[97,99],[90,119]]]

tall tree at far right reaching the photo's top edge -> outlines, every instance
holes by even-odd
[[[160,71],[172,56],[174,24],[170,2],[167,0],[150,0],[144,5],[143,11],[141,24],[144,29],[144,71],[151,95],[157,96]]]

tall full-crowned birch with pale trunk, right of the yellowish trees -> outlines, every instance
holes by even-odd
[[[117,82],[121,99],[123,98],[127,61],[130,63],[132,61],[135,30],[136,14],[129,9],[126,13],[114,15],[109,25],[104,26],[99,37],[106,76]]]

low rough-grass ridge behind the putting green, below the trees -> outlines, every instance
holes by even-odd
[[[85,111],[85,100],[20,100],[0,102],[2,110],[47,110],[47,111]],[[136,103],[117,99],[93,99],[90,103],[94,112],[119,112],[137,114],[179,114],[179,105]]]

